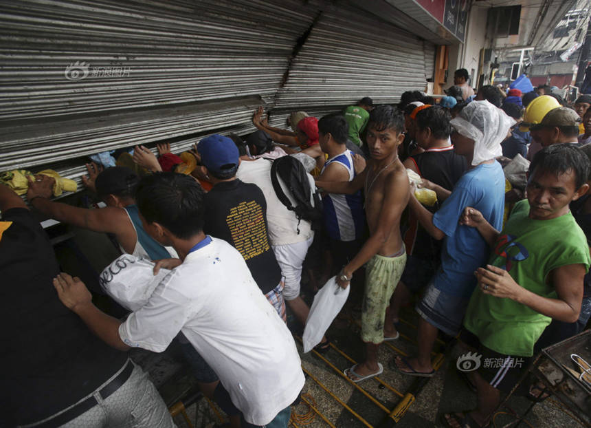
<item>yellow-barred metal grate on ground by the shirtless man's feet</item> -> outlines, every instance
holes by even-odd
[[[388,368],[394,356],[408,356],[416,351],[416,341],[406,334],[409,330],[415,330],[416,326],[404,319],[401,319],[401,323],[401,339],[381,345],[379,361],[384,366],[384,372],[361,383],[353,383],[343,373],[364,357],[364,345],[358,339],[360,325],[349,310],[344,310],[337,317],[331,330],[348,329],[357,339],[351,334],[347,335],[348,338],[336,339],[327,354],[316,351],[303,354],[302,339],[295,336],[302,356],[302,370],[307,377],[304,393],[315,398],[318,405],[312,410],[322,420],[315,422],[314,427],[386,427],[403,418],[429,378],[403,376]],[[338,345],[335,344],[337,341]],[[438,341],[438,344],[442,345],[443,341]],[[444,357],[441,352],[433,352],[433,356],[433,364],[437,369],[441,367]],[[298,413],[297,408],[294,411]],[[300,426],[293,421],[292,425]]]

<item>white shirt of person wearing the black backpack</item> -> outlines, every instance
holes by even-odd
[[[243,160],[240,167],[238,167],[236,178],[245,183],[254,183],[263,191],[267,201],[267,224],[269,226],[269,242],[271,242],[272,246],[306,241],[314,235],[314,231],[311,230],[311,222],[307,220],[300,221],[300,234],[298,235],[298,219],[295,217],[295,213],[289,211],[287,206],[282,204],[277,197],[277,193],[275,193],[275,189],[273,189],[273,183],[271,182],[272,164],[266,159]],[[314,189],[314,179],[311,175],[309,175],[309,182],[311,189]],[[297,205],[281,178],[279,178],[279,183],[291,204]]]

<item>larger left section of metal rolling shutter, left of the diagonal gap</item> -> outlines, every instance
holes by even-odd
[[[252,128],[252,110],[274,102],[293,46],[316,14],[315,6],[300,12],[284,6],[3,2],[0,171],[52,164],[79,175],[81,161],[64,161],[212,129]],[[89,65],[84,78],[82,63]],[[82,74],[74,78],[70,69],[68,80],[69,65]]]

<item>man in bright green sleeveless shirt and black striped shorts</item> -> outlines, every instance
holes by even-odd
[[[474,272],[478,288],[464,319],[462,340],[480,355],[458,360],[476,385],[477,407],[443,415],[447,427],[483,425],[498,407],[500,391],[509,392],[527,369],[550,321],[579,318],[591,259],[568,204],[588,191],[591,164],[571,145],[552,145],[536,153],[529,171],[528,199],[515,204],[502,232],[469,206],[460,218],[478,228],[493,253],[486,268]],[[467,359],[472,364],[462,365]]]

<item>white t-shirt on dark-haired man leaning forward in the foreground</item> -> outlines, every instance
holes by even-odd
[[[154,352],[179,332],[254,425],[271,422],[304,386],[291,333],[241,254],[222,239],[190,253],[119,328],[124,343]]]

